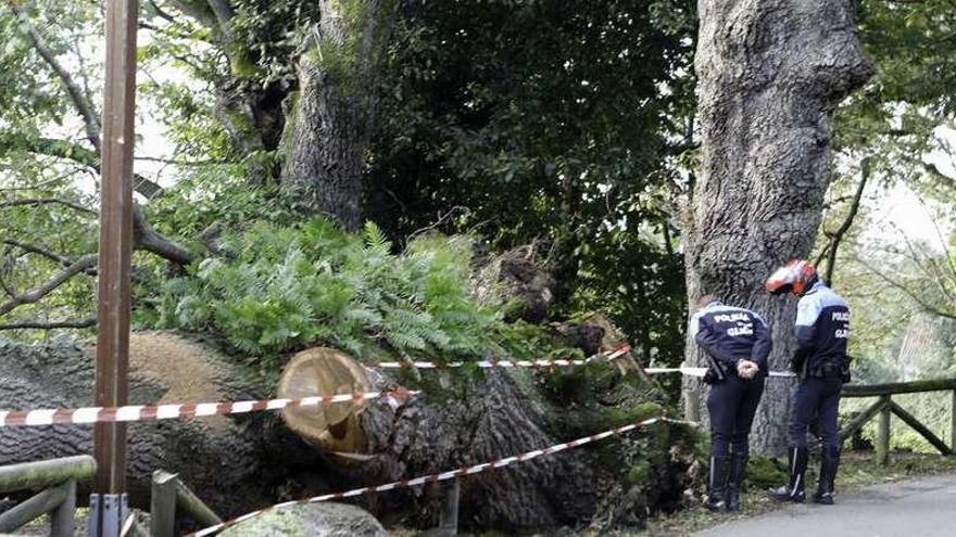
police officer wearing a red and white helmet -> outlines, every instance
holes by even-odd
[[[820,478],[813,496],[816,503],[833,503],[833,481],[840,464],[840,431],[836,414],[840,391],[850,382],[850,306],[818,277],[813,265],[794,260],[781,267],[766,282],[767,291],[790,291],[800,297],[796,306],[796,353],[791,370],[800,376],[789,427],[790,483],[770,490],[781,501],[802,502],[807,466],[807,427],[819,418],[822,449]]]

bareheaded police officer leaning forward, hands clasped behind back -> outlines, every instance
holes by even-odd
[[[725,306],[713,296],[697,301],[690,332],[707,355],[710,385],[710,476],[705,506],[735,510],[746,469],[751,424],[764,393],[770,329],[757,314]]]

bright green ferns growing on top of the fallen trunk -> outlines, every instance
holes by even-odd
[[[317,343],[362,357],[387,345],[401,355],[475,358],[511,341],[500,316],[469,295],[463,236],[422,238],[394,255],[373,223],[352,234],[315,219],[256,225],[225,247],[235,257],[206,259],[167,283],[160,325],[212,329],[264,360]]]

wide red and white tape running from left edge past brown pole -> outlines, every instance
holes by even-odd
[[[397,389],[355,394],[318,395],[300,399],[261,399],[223,402],[189,402],[185,405],[128,405],[125,407],[86,407],[48,410],[0,410],[0,427],[54,424],[108,423],[129,421],[179,420],[207,415],[241,414],[284,408],[316,407],[334,402],[382,399],[398,405],[420,392]]]

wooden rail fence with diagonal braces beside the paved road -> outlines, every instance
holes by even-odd
[[[920,423],[911,413],[892,399],[898,394],[919,394],[926,392],[949,392],[952,396],[952,409],[949,412],[949,444],[933,434],[929,427]],[[890,461],[890,414],[896,414],[904,423],[922,435],[930,444],[943,455],[954,455],[956,451],[956,379],[939,379],[932,381],[893,382],[889,384],[870,384],[843,386],[843,397],[877,397],[877,401],[866,410],[858,413],[840,432],[840,438],[846,439],[859,431],[868,421],[877,414],[880,424],[877,434],[877,462],[886,464]]]

